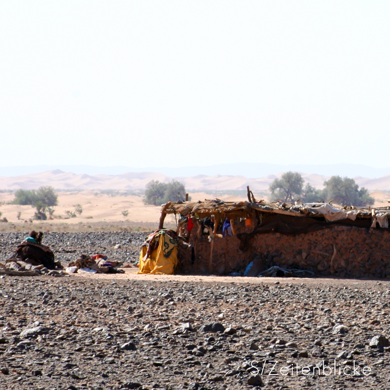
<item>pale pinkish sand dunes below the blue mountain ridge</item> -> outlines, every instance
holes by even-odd
[[[169,176],[159,172],[126,172],[121,174],[86,174],[65,172],[60,169],[46,170],[39,173],[29,173],[24,175],[0,177],[0,189],[32,189],[41,185],[51,185],[55,189],[144,189],[145,185],[152,179],[168,182],[175,178],[185,184],[187,190],[240,190],[247,185],[255,191],[268,189],[269,184],[280,177],[282,172],[268,174],[259,178],[249,178],[244,175],[204,175],[193,176]],[[301,173],[302,177],[311,185],[322,188],[324,180],[330,175],[316,173]],[[364,186],[369,190],[389,190],[390,174],[379,178],[367,178],[361,176],[354,177],[359,186]]]

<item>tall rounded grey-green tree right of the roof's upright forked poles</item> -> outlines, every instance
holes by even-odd
[[[284,172],[280,178],[275,178],[269,185],[272,200],[292,202],[303,193],[303,177],[298,172]]]

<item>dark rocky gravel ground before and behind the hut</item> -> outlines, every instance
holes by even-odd
[[[62,261],[145,235],[51,234]],[[114,276],[1,276],[0,388],[390,388],[390,281]]]

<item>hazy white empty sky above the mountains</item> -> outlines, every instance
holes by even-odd
[[[0,166],[390,166],[389,1],[1,1]]]

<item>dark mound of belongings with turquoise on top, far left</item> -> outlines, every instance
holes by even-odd
[[[49,246],[43,245],[43,233],[32,230],[28,237],[17,246],[17,249],[5,260],[5,269],[25,271],[31,269],[62,269],[60,261],[55,261],[54,253]]]

